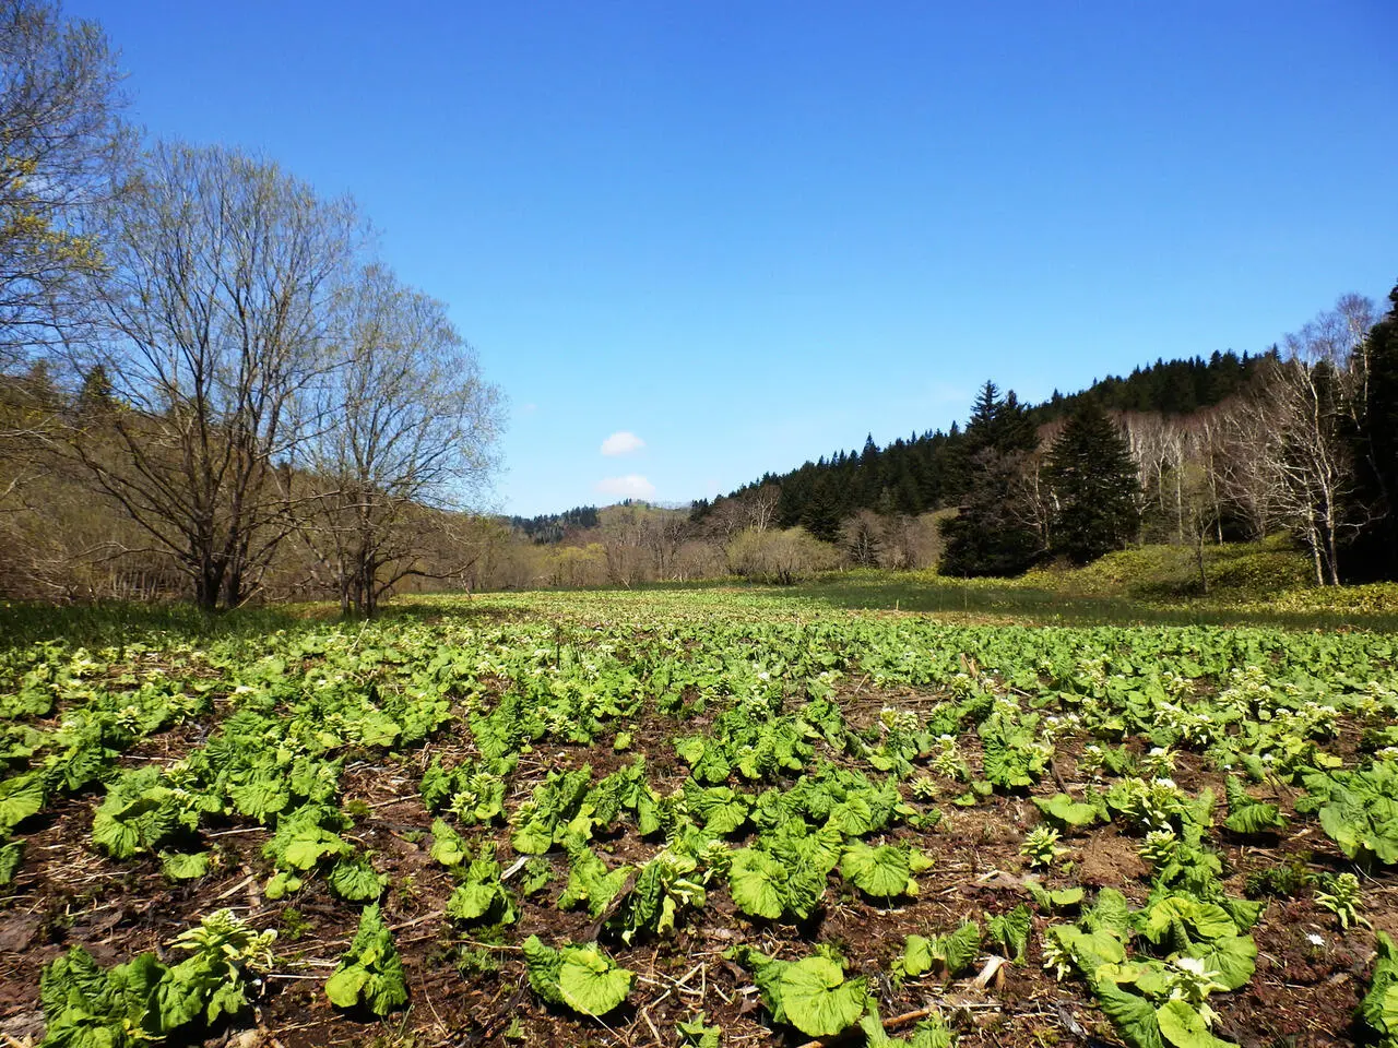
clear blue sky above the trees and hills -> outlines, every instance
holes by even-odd
[[[1392,0],[66,10],[151,134],[359,200],[510,400],[512,513],[712,496],[1398,281]]]

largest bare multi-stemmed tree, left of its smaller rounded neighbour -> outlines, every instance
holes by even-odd
[[[103,369],[116,407],[74,419],[60,446],[200,606],[240,604],[294,523],[298,397],[331,366],[355,208],[242,152],[173,144],[108,222],[103,328],[78,365]]]

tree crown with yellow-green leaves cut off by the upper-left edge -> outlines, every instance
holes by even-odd
[[[103,267],[89,210],[131,141],[101,27],[0,1],[0,369],[71,334]]]

